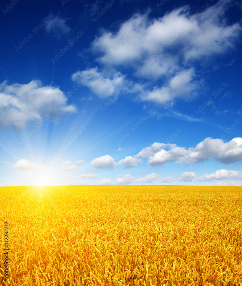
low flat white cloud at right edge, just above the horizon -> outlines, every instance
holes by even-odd
[[[212,174],[205,174],[201,177],[197,177],[198,181],[211,181],[211,180],[223,180],[223,179],[242,179],[242,171],[217,170]]]

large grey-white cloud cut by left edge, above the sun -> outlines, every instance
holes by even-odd
[[[67,112],[76,112],[76,108],[67,105],[67,98],[58,87],[43,86],[39,80],[0,84],[0,128],[24,128],[31,120],[56,120]]]

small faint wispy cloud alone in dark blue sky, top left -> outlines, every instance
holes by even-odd
[[[45,25],[45,30],[47,33],[54,33],[57,37],[61,34],[67,35],[70,33],[71,28],[68,27],[66,20],[54,15],[49,15],[47,17],[47,23]]]

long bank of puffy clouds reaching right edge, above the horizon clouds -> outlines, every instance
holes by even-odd
[[[166,150],[168,149],[168,150]],[[119,160],[123,168],[132,168],[141,163],[140,158],[148,157],[149,166],[162,166],[167,162],[195,164],[215,159],[224,164],[235,163],[242,160],[242,138],[233,138],[229,142],[222,139],[205,138],[195,147],[177,146],[155,142],[149,147],[143,148],[134,156],[127,156]]]

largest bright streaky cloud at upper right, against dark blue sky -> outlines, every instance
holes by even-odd
[[[234,47],[234,39],[239,36],[241,27],[237,24],[237,28],[229,37],[224,36],[233,27],[233,25],[227,25],[224,18],[224,10],[228,2],[218,1],[205,9],[199,17],[196,13],[189,13],[189,6],[176,8],[154,20],[149,19],[149,13],[135,14],[122,23],[116,33],[103,30],[92,43],[93,51],[101,52],[99,61],[109,65],[124,63],[137,65],[139,60],[141,67],[147,66],[146,74],[149,73],[149,65],[146,62],[150,57],[157,55],[153,60],[159,63],[156,71],[160,75],[170,72],[170,69],[172,72],[178,67],[181,58],[187,61],[205,57],[205,52],[219,39],[223,41],[214,54]],[[177,56],[173,56],[167,64],[167,58],[169,59],[174,51]]]

